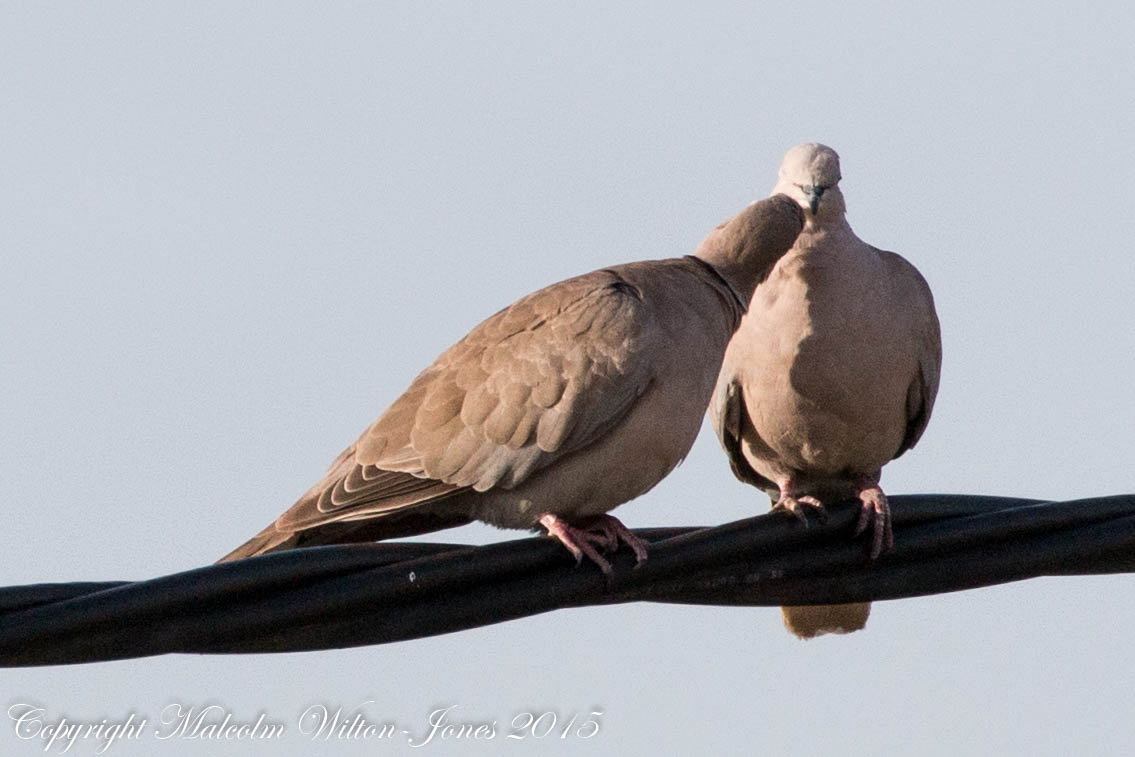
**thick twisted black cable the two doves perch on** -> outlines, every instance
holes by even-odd
[[[892,599],[1037,575],[1135,571],[1135,495],[1043,503],[891,497],[894,548],[868,562],[858,506],[805,528],[775,513],[638,530],[605,578],[550,539],[310,547],[146,581],[0,589],[0,665],[384,644],[623,602],[800,605]]]

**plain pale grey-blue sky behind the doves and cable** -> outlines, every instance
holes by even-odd
[[[884,488],[1135,491],[1132,6],[498,5],[0,8],[0,584],[212,562],[482,318],[691,252],[806,141],[840,152],[852,227],[922,270],[942,321],[934,418]],[[706,424],[616,514],[766,507]],[[865,632],[809,642],[774,608],[574,609],[342,651],[2,670],[0,692],[79,722],[263,712],[288,729],[274,754],[1102,755],[1135,742],[1133,588],[880,603]],[[590,741],[297,732],[313,704],[365,701],[422,732],[448,705],[502,730],[604,714]],[[0,747],[43,745],[0,713]]]

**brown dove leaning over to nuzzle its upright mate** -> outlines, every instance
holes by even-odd
[[[411,536],[473,520],[543,525],[605,572],[646,546],[606,513],[689,452],[753,291],[804,212],[749,205],[696,255],[553,284],[484,321],[413,380],[321,481],[222,558]]]

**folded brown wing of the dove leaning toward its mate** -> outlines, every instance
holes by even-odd
[[[295,531],[512,488],[619,422],[658,330],[617,269],[536,292],[422,371],[277,521]]]

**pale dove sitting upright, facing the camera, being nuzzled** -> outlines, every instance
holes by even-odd
[[[796,200],[804,230],[757,288],[725,353],[711,420],[733,473],[774,510],[806,519],[857,497],[856,535],[891,546],[883,465],[918,441],[938,394],[942,340],[922,275],[860,241],[844,218],[831,148],[789,150],[773,193]],[[714,236],[706,244],[715,244]],[[805,522],[807,522],[805,520]],[[868,604],[785,607],[802,638],[856,631]]]

